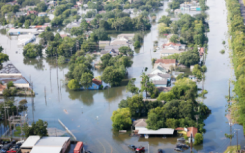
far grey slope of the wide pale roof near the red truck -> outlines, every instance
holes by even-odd
[[[35,146],[62,147],[70,137],[42,137]]]

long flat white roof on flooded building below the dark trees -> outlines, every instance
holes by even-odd
[[[161,128],[158,130],[148,130],[147,128],[142,128],[142,129],[139,129],[138,134],[155,134],[155,135],[174,134],[174,129]]]

